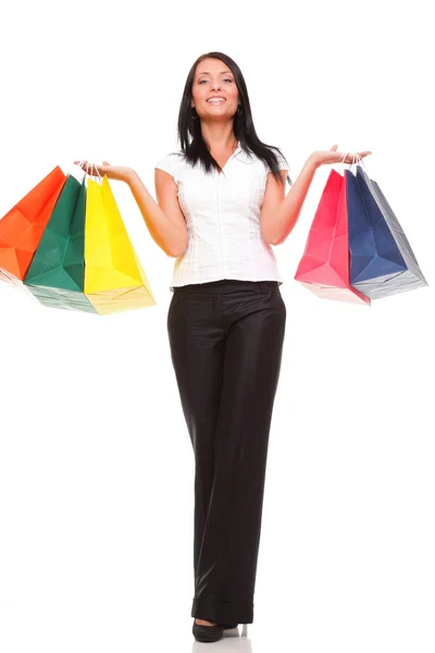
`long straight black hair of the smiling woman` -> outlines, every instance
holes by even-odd
[[[273,176],[277,181],[282,182],[283,180],[278,172],[278,160],[274,150],[277,150],[285,161],[287,161],[287,159],[284,157],[283,152],[277,147],[262,143],[257,136],[256,127],[253,126],[251,107],[249,102],[248,89],[246,87],[245,77],[241,74],[241,71],[237,63],[231,57],[224,54],[223,52],[207,52],[206,54],[201,54],[195,61],[189,71],[189,74],[187,75],[182,101],[179,104],[177,125],[178,140],[182,146],[182,151],[184,153],[185,160],[194,165],[198,161],[200,161],[207,172],[210,172],[216,167],[219,170],[222,170],[217,161],[215,161],[214,158],[211,156],[210,150],[207,147],[206,141],[202,137],[200,120],[199,118],[194,118],[191,109],[191,88],[194,85],[196,67],[198,63],[200,63],[203,59],[209,58],[220,59],[221,61],[226,63],[226,65],[234,75],[234,79],[238,90],[240,109],[237,109],[234,115],[233,130],[235,137],[237,138],[237,140],[240,141],[241,149],[248,156],[251,156],[251,152],[253,152],[259,159],[261,159],[264,163],[269,165],[270,171],[273,173]],[[240,113],[239,110],[241,110]],[[291,186],[293,182],[288,174],[287,182]]]

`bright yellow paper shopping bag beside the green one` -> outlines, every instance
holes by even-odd
[[[84,292],[101,316],[156,305],[105,175],[88,180]]]

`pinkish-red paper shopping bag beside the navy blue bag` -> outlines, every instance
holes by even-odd
[[[332,170],[295,279],[320,297],[370,305],[370,298],[350,285],[349,261],[346,182]]]

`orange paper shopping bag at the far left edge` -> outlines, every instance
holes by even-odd
[[[0,220],[0,279],[21,285],[65,181],[57,165]]]

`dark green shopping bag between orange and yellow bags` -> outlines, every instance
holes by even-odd
[[[45,306],[96,313],[84,294],[86,176],[70,174],[24,284]]]

